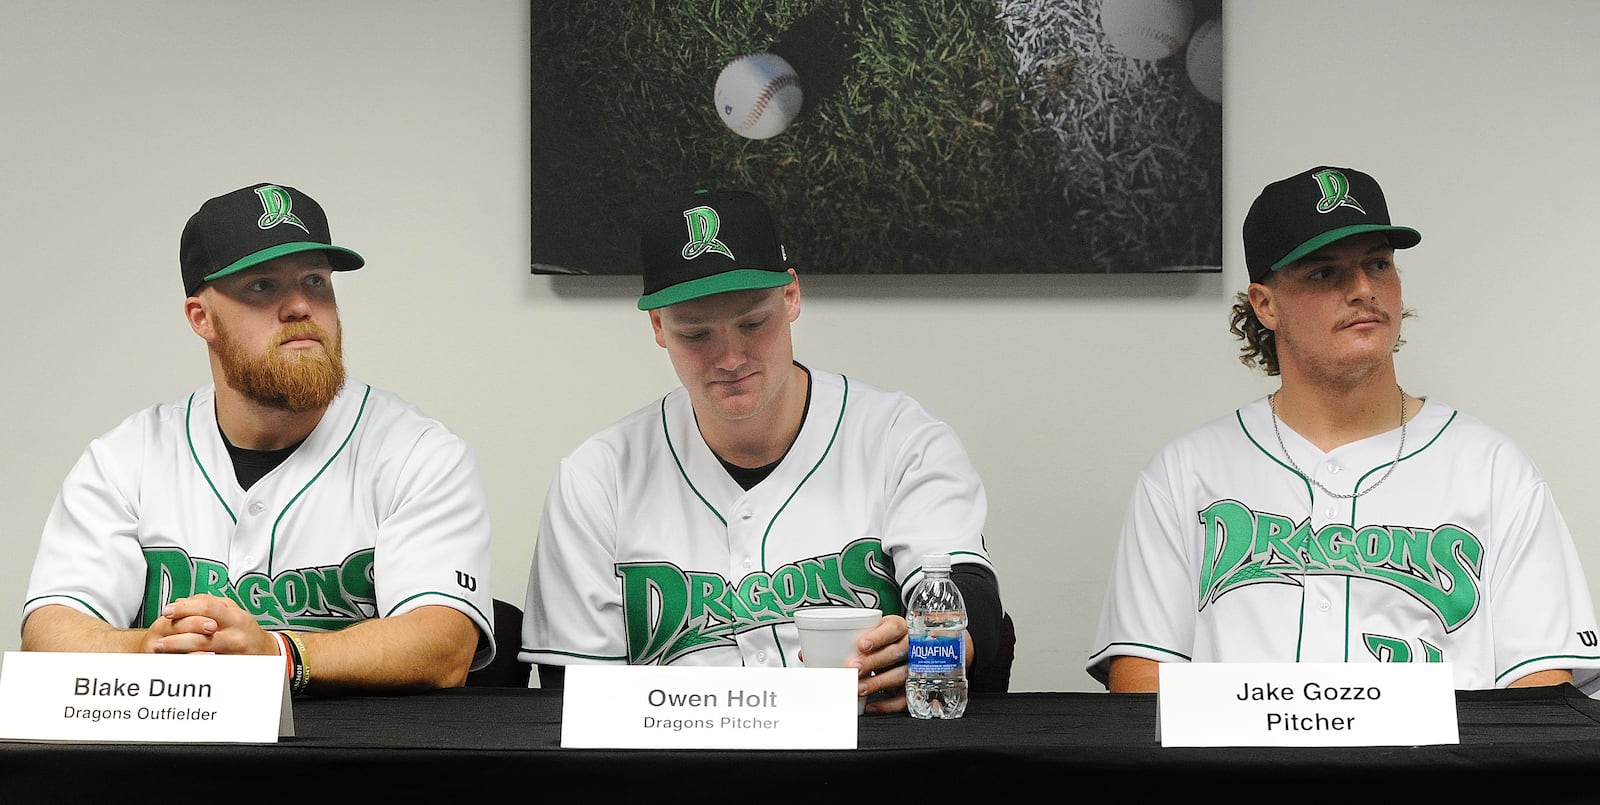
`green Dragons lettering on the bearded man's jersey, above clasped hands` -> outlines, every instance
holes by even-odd
[[[146,629],[168,603],[202,592],[234,599],[264,629],[294,626],[334,632],[378,615],[370,547],[334,567],[285,570],[274,578],[246,573],[237,581],[227,578],[227,565],[192,559],[178,547],[149,547],[144,563],[139,626]]]

